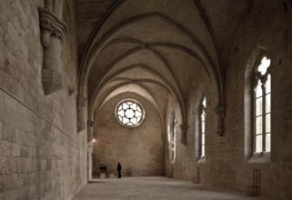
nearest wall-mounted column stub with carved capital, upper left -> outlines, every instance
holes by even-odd
[[[50,4],[47,3],[47,6]],[[51,5],[50,5],[51,6]],[[42,82],[45,95],[50,95],[63,87],[60,55],[61,41],[66,25],[49,9],[39,7],[41,43],[44,48]]]

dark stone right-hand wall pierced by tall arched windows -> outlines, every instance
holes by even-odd
[[[229,56],[226,74],[227,116],[226,132],[216,135],[215,115],[206,123],[206,161],[196,160],[195,115],[198,94],[211,95],[209,87],[195,88],[189,96],[187,144],[178,143],[175,177],[191,179],[196,167],[201,170],[201,183],[215,185],[245,193],[246,185],[252,184],[252,169],[261,170],[261,195],[264,199],[289,200],[292,198],[292,10],[283,1],[252,1],[242,25],[237,30],[233,52]],[[257,45],[267,49],[271,58],[272,75],[272,152],[270,161],[245,157],[245,73],[249,56]],[[206,83],[198,75],[194,85]],[[212,109],[210,108],[210,109]],[[209,118],[207,118],[209,121]],[[179,173],[181,172],[181,173]]]

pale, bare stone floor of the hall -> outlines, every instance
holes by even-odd
[[[243,200],[248,197],[206,185],[166,177],[123,177],[121,179],[94,179],[74,200]]]

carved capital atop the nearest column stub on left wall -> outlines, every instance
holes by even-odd
[[[41,29],[62,40],[66,33],[65,22],[45,8],[39,7],[38,12]]]

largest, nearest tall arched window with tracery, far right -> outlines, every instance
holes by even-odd
[[[271,75],[270,59],[264,56],[255,69],[254,152],[271,151]]]

